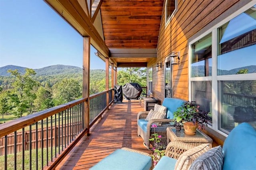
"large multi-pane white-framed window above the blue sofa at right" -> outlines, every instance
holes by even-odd
[[[190,99],[211,113],[212,128],[226,134],[242,122],[256,128],[256,4],[252,3],[190,43]]]

